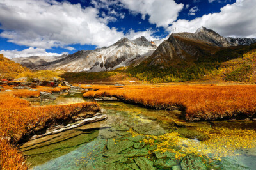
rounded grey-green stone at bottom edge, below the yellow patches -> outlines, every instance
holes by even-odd
[[[180,163],[182,169],[207,169],[205,164],[202,162],[202,158],[195,155],[186,155]]]

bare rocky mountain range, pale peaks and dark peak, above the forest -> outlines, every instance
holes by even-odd
[[[31,56],[13,61],[33,70],[65,70],[67,72],[101,72],[120,67],[137,66],[145,59],[149,66],[175,63],[179,59],[196,60],[204,52],[216,52],[221,47],[250,45],[255,38],[225,38],[202,27],[195,33],[173,33],[162,40],[148,41],[144,36],[122,38],[109,47],[81,50],[58,57]]]

